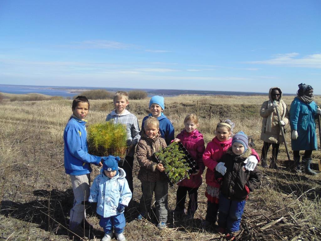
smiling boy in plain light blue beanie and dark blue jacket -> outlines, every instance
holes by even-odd
[[[174,127],[166,115],[163,114],[165,109],[164,97],[155,95],[149,101],[149,115],[145,116],[142,123],[142,131],[144,130],[144,124],[148,117],[152,116],[157,118],[160,122],[160,137],[164,138],[166,144],[169,145],[172,140],[174,140]]]

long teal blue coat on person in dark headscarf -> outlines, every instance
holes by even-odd
[[[291,139],[293,151],[317,150],[316,118],[317,104],[312,101],[306,104],[297,97],[291,103],[291,131],[298,131],[298,139]]]

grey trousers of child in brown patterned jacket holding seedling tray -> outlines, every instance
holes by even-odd
[[[168,183],[142,181],[142,197],[139,203],[139,211],[146,215],[151,210],[153,192],[155,193],[156,217],[160,222],[167,222],[168,210]]]

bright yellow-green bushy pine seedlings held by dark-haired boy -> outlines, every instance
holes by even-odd
[[[127,151],[127,133],[123,124],[113,121],[92,124],[87,128],[88,152],[95,156],[119,156],[124,162]]]

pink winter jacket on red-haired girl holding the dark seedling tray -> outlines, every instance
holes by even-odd
[[[203,135],[195,129],[193,132],[188,133],[185,129],[177,135],[180,142],[187,149],[189,154],[195,160],[198,169],[200,170],[197,175],[189,175],[189,179],[185,178],[178,183],[178,186],[198,188],[202,184],[202,174],[204,172],[205,166],[203,163],[203,152],[205,150],[205,143]]]

